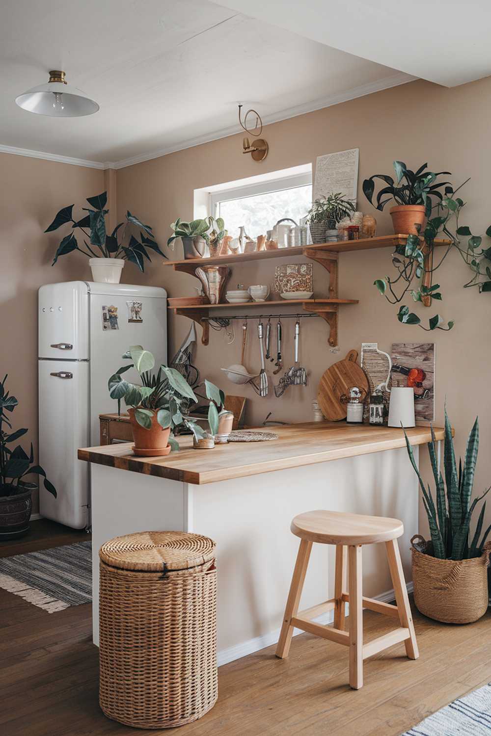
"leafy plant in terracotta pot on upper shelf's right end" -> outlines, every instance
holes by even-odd
[[[451,176],[450,171],[426,171],[428,163],[423,163],[416,171],[411,171],[403,161],[393,163],[397,181],[386,174],[373,174],[364,180],[363,192],[371,205],[378,210],[383,210],[387,202],[393,199],[396,204],[390,208],[394,233],[398,235],[417,235],[431,215],[431,209],[435,202],[434,198],[442,202],[448,192],[453,192],[450,182],[437,182],[437,177],[442,175]],[[374,179],[381,179],[386,186],[381,188],[377,194],[377,204],[372,202],[375,192]],[[448,185],[448,188],[446,188]],[[444,194],[439,191],[445,187]],[[419,230],[418,230],[419,227]]]

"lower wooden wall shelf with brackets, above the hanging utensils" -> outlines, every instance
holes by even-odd
[[[291,306],[295,305],[303,309],[303,311],[311,314],[317,314],[328,323],[330,329],[328,343],[333,347],[338,344],[338,308],[339,305],[358,304],[357,299],[281,299],[266,302],[240,302],[239,304],[202,304],[190,305],[183,307],[169,307],[174,314],[186,316],[193,319],[202,327],[201,342],[208,345],[210,339],[210,326],[208,319],[213,316],[213,312],[219,316],[221,310],[227,309],[232,311],[235,308],[255,308],[258,309],[258,316],[267,316],[267,311],[271,306]]]

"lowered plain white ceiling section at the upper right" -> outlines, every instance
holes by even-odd
[[[490,0],[220,0],[364,59],[454,87],[491,74]]]

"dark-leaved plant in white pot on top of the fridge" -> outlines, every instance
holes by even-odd
[[[60,255],[66,255],[74,250],[79,250],[89,258],[92,278],[102,283],[119,283],[124,261],[135,263],[143,272],[145,258],[151,261],[147,249],[153,250],[158,255],[166,258],[166,255],[158,247],[154,240],[152,227],[141,222],[138,217],[132,215],[128,210],[125,222],[116,225],[113,232],[106,232],[105,216],[109,210],[105,210],[107,203],[107,192],[103,191],[97,197],[88,197],[90,208],[82,207],[87,212],[85,217],[75,220],[72,214],[74,205],[64,207],[55,216],[52,224],[46,228],[45,233],[52,233],[62,225],[71,224],[71,233],[68,233],[58,246],[54,254],[52,266],[57,262]],[[121,230],[121,227],[123,228]],[[131,230],[138,233],[135,237]],[[85,248],[80,247],[74,231],[80,230],[84,236]]]

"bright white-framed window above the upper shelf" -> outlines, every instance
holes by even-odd
[[[208,191],[211,213],[225,220],[229,235],[237,237],[244,225],[247,235],[256,238],[266,235],[283,217],[300,224],[312,203],[311,166],[275,171]]]

